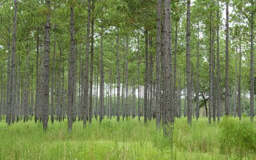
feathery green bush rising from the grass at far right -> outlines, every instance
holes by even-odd
[[[255,157],[256,130],[248,119],[241,122],[225,117],[221,121],[220,150],[221,154],[234,156],[236,159]]]

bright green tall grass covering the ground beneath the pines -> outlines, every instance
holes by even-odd
[[[236,134],[235,125],[241,123],[249,124],[252,132],[250,144],[246,143],[252,146],[246,148],[244,155],[246,159],[256,159],[256,152],[253,152],[253,146],[256,148],[256,123],[244,119],[239,123],[238,118],[230,118],[229,122],[224,120],[224,125],[217,122],[209,125],[207,118],[199,118],[198,122],[193,119],[191,127],[186,118],[176,119],[172,149],[163,131],[157,131],[156,122],[145,125],[143,118],[141,122],[138,118],[124,121],[121,118],[119,123],[116,118],[105,118],[102,124],[93,119],[86,129],[83,129],[83,122],[75,122],[70,133],[67,132],[67,120],[54,124],[49,121],[47,132],[42,131],[42,124],[33,121],[8,127],[2,120],[0,159],[237,159],[236,139],[228,137],[234,135],[228,129],[223,132],[223,126],[233,126],[230,129]],[[221,151],[228,148],[223,146],[227,145],[223,138],[234,143],[230,144],[234,147],[228,152]],[[239,153],[241,156],[242,152]]]

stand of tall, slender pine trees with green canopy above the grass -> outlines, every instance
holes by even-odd
[[[0,119],[253,120],[255,12],[253,0],[4,1]]]

